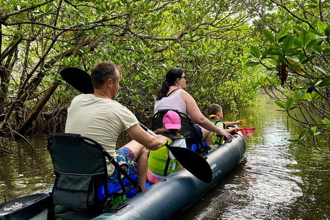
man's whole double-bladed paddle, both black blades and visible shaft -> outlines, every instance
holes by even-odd
[[[73,88],[84,94],[94,93],[94,87],[90,74],[85,71],[69,67],[60,72],[62,78],[68,82]],[[146,126],[140,123],[140,126],[146,130],[150,135],[157,136],[150,131]],[[173,147],[166,145],[171,150],[173,156],[179,161],[180,164],[192,175],[205,183],[211,183],[212,170],[209,163],[204,157],[195,151],[185,147]]]

